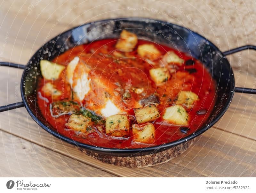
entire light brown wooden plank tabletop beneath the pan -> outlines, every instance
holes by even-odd
[[[2,16],[3,17],[3,16]],[[10,16],[0,26],[0,59],[25,64],[70,26]],[[0,105],[21,101],[22,70],[0,67]],[[236,86],[255,77],[235,72]],[[0,115],[0,176],[3,177],[256,177],[256,96],[235,93],[226,114],[177,158],[154,167],[116,167],[97,161],[44,131],[26,109]]]

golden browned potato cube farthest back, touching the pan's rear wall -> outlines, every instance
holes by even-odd
[[[138,38],[134,33],[123,30],[120,34],[120,40],[116,43],[116,48],[122,52],[131,52],[138,43]]]

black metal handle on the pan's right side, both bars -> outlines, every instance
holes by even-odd
[[[241,47],[234,48],[234,49],[228,50],[228,51],[226,51],[226,52],[223,52],[223,54],[224,54],[225,56],[227,56],[227,55],[234,54],[234,53],[236,53],[236,52],[243,51],[243,50],[246,50],[246,49],[253,49],[253,50],[256,50],[256,46],[253,46],[253,45],[245,45],[245,46],[241,46]],[[236,93],[256,94],[256,89],[253,89],[253,88],[235,87],[235,92],[236,92]]]

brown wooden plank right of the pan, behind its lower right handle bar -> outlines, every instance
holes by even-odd
[[[235,73],[238,87],[256,88],[255,77]],[[256,95],[235,93],[228,111],[214,125],[237,135],[256,140]]]

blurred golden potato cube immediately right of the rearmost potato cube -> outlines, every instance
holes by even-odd
[[[161,52],[153,44],[142,44],[138,46],[138,54],[142,58],[156,60],[161,55]]]

